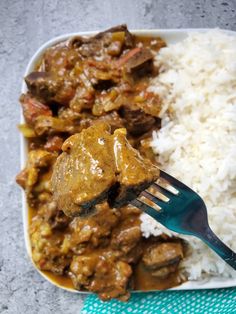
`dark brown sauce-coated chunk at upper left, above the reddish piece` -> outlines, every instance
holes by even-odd
[[[25,77],[25,82],[32,95],[48,103],[68,105],[75,95],[76,88],[71,80],[49,72],[32,72]]]

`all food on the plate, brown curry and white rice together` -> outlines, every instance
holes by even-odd
[[[145,163],[195,189],[207,204],[212,229],[235,250],[235,50],[236,40],[219,31],[193,33],[166,47],[161,38],[133,35],[125,25],[45,50],[20,97],[25,123],[19,129],[29,152],[17,182],[29,206],[32,258],[48,277],[102,300],[127,300],[130,290],[234,276],[201,241],[173,234],[131,205],[111,202],[123,194],[116,185],[115,195],[107,193],[121,183],[110,169],[110,148],[103,151],[111,160],[110,177],[77,204],[74,195],[66,204],[69,186],[76,195],[87,187],[80,188],[82,178],[73,180],[72,173],[62,180],[58,169],[79,160],[80,140],[91,130],[99,131],[91,141],[105,136],[111,147],[115,137],[123,148],[128,141],[120,156],[132,152],[133,160],[137,150]],[[86,159],[98,146],[86,139],[83,147]],[[93,212],[74,217],[84,205]]]

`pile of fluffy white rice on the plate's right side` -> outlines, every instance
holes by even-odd
[[[153,150],[164,170],[202,196],[210,226],[235,251],[236,38],[217,30],[193,33],[161,49],[156,63],[161,74],[150,90],[162,96],[166,108],[161,130],[153,133]],[[146,214],[141,219],[146,237],[173,235]],[[203,242],[180,237],[189,243],[182,263],[189,279],[236,277]]]

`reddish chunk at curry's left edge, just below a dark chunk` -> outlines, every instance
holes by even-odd
[[[20,103],[23,110],[25,121],[33,126],[38,116],[52,116],[50,108],[32,97],[30,94],[22,94]]]

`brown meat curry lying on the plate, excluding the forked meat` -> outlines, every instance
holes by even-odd
[[[131,287],[147,291],[179,285],[178,263],[183,257],[174,261],[177,270],[170,271],[165,279],[155,277],[153,268],[144,266],[143,256],[149,245],[145,243],[181,241],[164,235],[155,243],[144,240],[137,209],[130,211],[126,206],[115,211],[106,205],[101,206],[100,216],[98,213],[79,220],[67,217],[52,199],[48,183],[62,143],[98,120],[110,124],[112,132],[126,128],[131,145],[155,161],[143,141],[147,143],[152,130],[160,126],[162,103],[158,95],[148,91],[148,84],[158,73],[152,53],[164,47],[165,42],[149,36],[135,36],[130,41],[131,35],[124,26],[116,32],[108,31],[108,36],[99,37],[102,47],[96,37],[92,45],[78,37],[75,46],[62,42],[49,48],[36,72],[26,78],[29,92],[20,99],[26,120],[23,130],[26,137],[30,136],[28,162],[17,182],[26,190],[30,207],[34,263],[57,285],[95,292],[103,300],[127,300]],[[115,42],[109,42],[111,37]],[[132,60],[132,54],[136,59]],[[84,74],[88,75],[87,81]],[[161,264],[158,269],[162,267],[168,271],[169,264]]]

